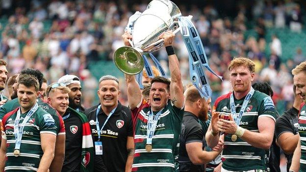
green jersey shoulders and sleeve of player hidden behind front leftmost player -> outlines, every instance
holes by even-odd
[[[55,124],[57,126],[57,134],[65,134],[65,125],[62,117],[57,113],[57,111],[52,108],[48,103],[44,102],[41,98],[37,98],[36,102],[38,103],[38,106],[44,109],[46,112],[52,115]],[[19,107],[19,101],[18,98],[14,98],[12,100],[7,101],[1,108],[0,108],[0,122],[2,121],[2,118],[4,117],[5,114],[8,112],[16,109]]]

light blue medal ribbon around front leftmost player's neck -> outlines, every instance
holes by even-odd
[[[14,123],[14,135],[16,139],[15,149],[20,149],[21,139],[24,132],[25,124],[37,109],[38,109],[38,104],[35,103],[35,105],[31,108],[31,110],[26,114],[26,117],[24,118],[24,121],[22,122],[20,127],[18,126],[18,124],[21,116],[21,107],[17,111],[17,116]]]

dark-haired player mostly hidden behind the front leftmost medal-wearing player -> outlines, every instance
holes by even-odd
[[[39,88],[42,86],[43,82],[43,74],[39,70],[34,70],[30,68],[26,68],[21,71],[20,74],[17,75],[15,78],[15,83],[13,84],[13,95],[17,95],[17,86],[19,84],[19,80],[23,78],[25,75],[32,75],[35,76],[39,82]],[[50,172],[59,172],[62,168],[64,158],[65,158],[65,126],[62,117],[53,109],[48,103],[44,102],[41,98],[37,98],[36,102],[39,107],[43,108],[46,112],[50,113],[52,118],[55,121],[57,126],[56,129],[56,144],[55,144],[55,155],[50,166]],[[1,108],[0,108],[0,122],[5,114],[8,112],[16,109],[20,106],[18,98],[14,98],[12,100],[7,101]]]

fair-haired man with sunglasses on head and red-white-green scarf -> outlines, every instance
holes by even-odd
[[[68,107],[69,92],[70,89],[63,83],[53,83],[46,89],[48,103],[63,116],[66,125],[62,172],[93,172],[94,147],[90,127],[84,114]],[[103,162],[101,163],[102,169],[105,169]]]

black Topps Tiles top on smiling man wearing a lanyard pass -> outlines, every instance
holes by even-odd
[[[96,112],[98,105],[95,105],[85,110],[85,115],[88,118],[91,133],[98,141],[98,131],[96,126]],[[99,127],[102,128],[107,119],[107,115],[102,111],[98,114]],[[131,111],[127,106],[122,105],[120,102],[114,112],[109,118],[104,128],[102,129],[102,159],[108,172],[125,172],[126,162],[128,158],[127,140],[133,137],[133,123],[131,118]],[[94,160],[94,167],[99,169],[99,162]]]

